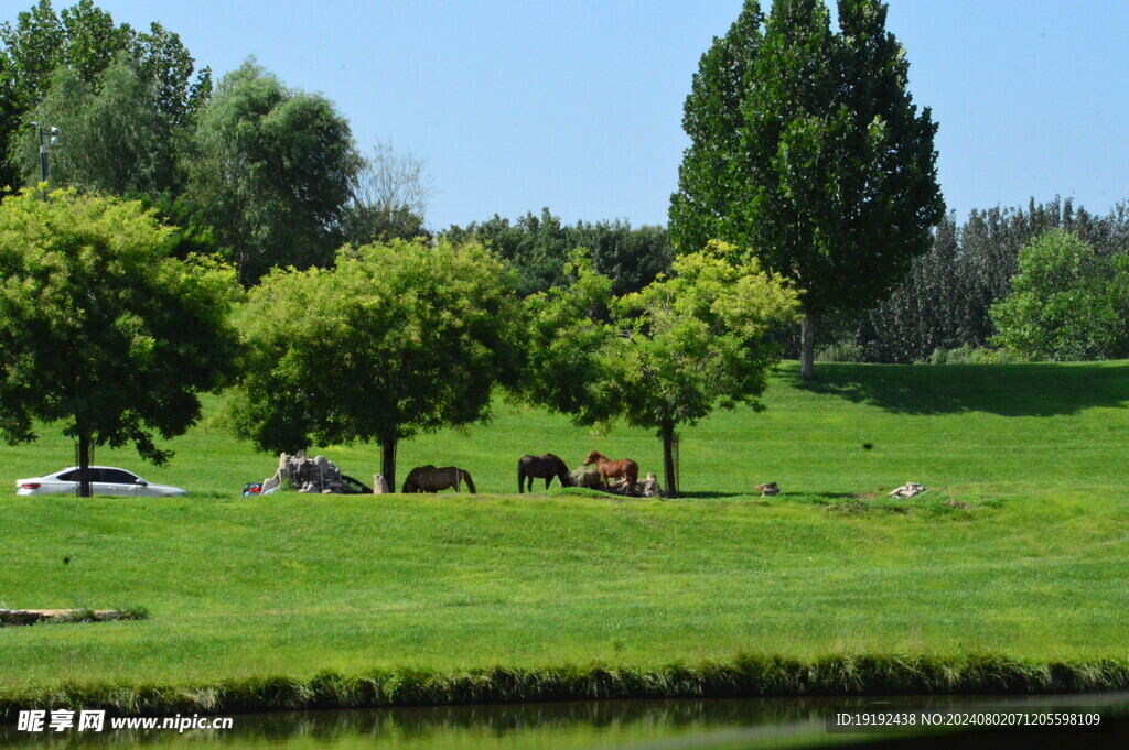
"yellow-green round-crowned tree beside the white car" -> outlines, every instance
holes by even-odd
[[[93,447],[182,434],[200,391],[233,374],[230,270],[167,255],[168,229],[139,203],[26,189],[0,204],[0,434],[62,422],[89,495]]]

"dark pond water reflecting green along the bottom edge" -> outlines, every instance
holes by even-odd
[[[738,748],[863,747],[948,748],[952,733],[841,734],[828,717],[841,712],[988,711],[1100,712],[1096,731],[1033,730],[962,733],[961,748],[1129,748],[1129,694],[1052,697],[773,698],[741,700],[601,702],[508,706],[444,706],[340,712],[234,715],[228,730],[112,730],[19,732],[0,727],[0,747],[168,748],[252,750],[736,750]]]

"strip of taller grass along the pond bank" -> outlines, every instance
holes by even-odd
[[[63,685],[0,695],[0,724],[19,711],[106,709],[119,715],[229,714],[566,700],[747,698],[859,695],[1006,695],[1129,688],[1129,659],[1027,662],[961,658],[859,655],[804,662],[742,655],[726,662],[659,669],[563,667],[375,671],[308,680],[274,677],[194,686]]]

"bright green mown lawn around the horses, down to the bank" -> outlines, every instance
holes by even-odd
[[[768,412],[683,431],[693,500],[243,498],[274,459],[212,425],[141,471],[194,497],[9,494],[0,605],[152,619],[0,629],[0,688],[737,652],[1129,653],[1129,364],[819,373],[799,387],[788,367]],[[593,448],[660,474],[653,435],[595,436],[505,404],[490,426],[405,443],[400,471],[456,464],[511,493],[523,453],[576,465]],[[0,448],[0,480],[70,450],[50,434]],[[359,477],[377,464],[370,447],[324,452]],[[97,461],[143,468],[125,452]],[[907,479],[931,489],[881,495]],[[749,496],[767,480],[785,494]]]

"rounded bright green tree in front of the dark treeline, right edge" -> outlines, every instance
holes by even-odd
[[[991,308],[995,343],[1030,360],[1129,354],[1129,256],[1101,256],[1052,229],[1019,250],[1012,295]]]

